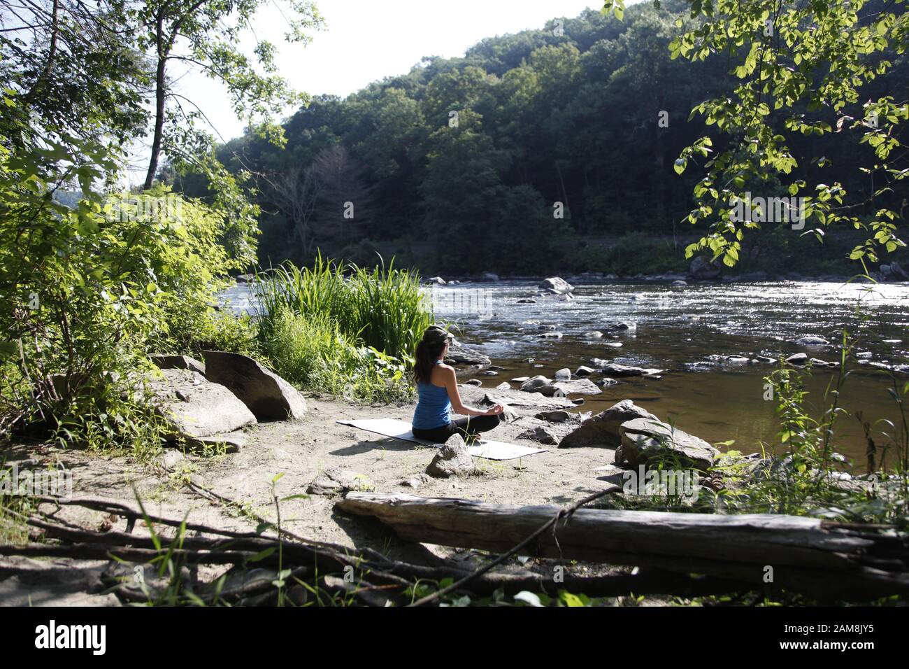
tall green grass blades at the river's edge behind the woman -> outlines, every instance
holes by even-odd
[[[267,339],[282,309],[334,320],[345,337],[409,364],[433,314],[420,277],[395,269],[340,264],[320,255],[312,268],[285,263],[256,273],[260,328]]]

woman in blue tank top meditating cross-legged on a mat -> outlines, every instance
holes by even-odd
[[[419,400],[414,411],[414,436],[417,439],[445,443],[459,433],[465,440],[478,432],[492,430],[503,420],[504,407],[496,404],[488,411],[465,407],[457,389],[454,368],[446,365],[445,353],[454,336],[445,329],[432,326],[426,329],[416,347],[414,380]],[[453,420],[452,413],[465,418]]]

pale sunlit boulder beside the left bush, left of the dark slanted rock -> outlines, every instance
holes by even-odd
[[[161,375],[149,378],[146,386],[173,436],[202,440],[255,423],[253,412],[233,392],[198,372],[161,370]]]

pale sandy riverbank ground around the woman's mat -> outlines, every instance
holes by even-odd
[[[488,389],[462,387],[464,402],[483,407]],[[560,438],[577,423],[546,423],[534,418],[534,407],[515,407],[519,418],[488,433],[497,441],[540,446],[546,451],[512,461],[474,458],[477,475],[434,479],[417,490],[404,481],[425,471],[435,454],[433,447],[383,438],[336,421],[356,418],[395,418],[410,421],[414,405],[364,406],[344,400],[306,395],[308,415],[304,421],[260,423],[247,429],[247,443],[235,453],[203,457],[187,453],[169,470],[135,462],[124,456],[98,455],[85,451],[59,451],[47,445],[18,444],[5,452],[5,460],[61,461],[74,472],[74,497],[106,499],[135,506],[136,495],[147,512],[189,522],[239,531],[255,529],[255,519],[191,491],[183,481],[191,478],[226,498],[244,505],[256,515],[275,520],[272,481],[279,497],[304,494],[307,486],[326,470],[353,471],[363,490],[407,492],[426,497],[458,497],[510,504],[551,503],[564,505],[591,492],[620,482],[618,470],[609,466],[614,451],[601,448],[559,450],[520,440],[517,435],[535,425],[545,425]],[[0,455],[0,459],[4,456]],[[285,528],[307,539],[348,546],[369,546],[389,557],[412,563],[439,563],[443,557],[462,562],[482,560],[476,552],[428,544],[402,542],[381,523],[335,512],[336,496],[310,495],[281,502]],[[42,509],[51,511],[47,505]],[[57,516],[86,528],[99,528],[101,513],[79,507],[63,507]],[[114,523],[124,531],[125,521]],[[0,570],[4,564],[0,562]]]

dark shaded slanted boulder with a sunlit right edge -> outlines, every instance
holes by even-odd
[[[306,400],[290,383],[252,358],[205,350],[205,376],[233,392],[260,420],[285,421],[306,415]]]

